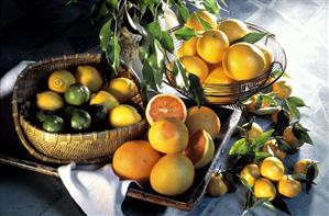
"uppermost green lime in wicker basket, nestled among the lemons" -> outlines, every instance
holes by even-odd
[[[66,103],[72,105],[81,105],[89,100],[90,90],[85,84],[75,83],[65,91],[64,96]]]

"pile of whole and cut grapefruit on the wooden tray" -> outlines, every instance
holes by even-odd
[[[150,182],[161,194],[179,195],[193,185],[195,169],[211,162],[220,118],[207,106],[187,111],[173,94],[153,96],[145,115],[151,125],[145,139],[122,144],[113,155],[113,170],[122,179]]]

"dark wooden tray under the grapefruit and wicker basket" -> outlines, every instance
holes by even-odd
[[[169,197],[156,193],[151,189],[150,185],[146,185],[144,190],[142,190],[138,185],[131,184],[127,192],[127,196],[182,211],[191,211],[194,208],[194,206],[201,200],[206,192],[207,184],[210,181],[211,171],[218,169],[220,166],[223,166],[221,155],[228,154],[224,152],[224,148],[229,144],[230,137],[233,134],[235,125],[241,116],[241,112],[237,109],[215,105],[210,105],[210,107],[217,112],[221,120],[221,132],[219,137],[215,139],[216,154],[211,164],[206,166],[200,170],[196,170],[196,178],[193,186],[183,195]],[[20,149],[20,151],[22,150],[23,149]],[[58,164],[39,161],[32,158],[28,151],[18,152],[15,154],[15,157],[11,155],[0,155],[0,162],[59,178],[57,173]]]

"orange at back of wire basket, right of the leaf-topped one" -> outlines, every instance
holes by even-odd
[[[244,37],[249,33],[246,24],[237,19],[227,19],[220,21],[217,29],[226,33],[230,44],[237,39]]]

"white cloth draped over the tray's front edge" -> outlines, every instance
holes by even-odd
[[[121,204],[131,181],[119,181],[112,167],[106,164],[58,168],[62,182],[70,196],[87,215],[123,215]]]

